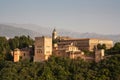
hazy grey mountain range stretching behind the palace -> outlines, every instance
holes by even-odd
[[[41,27],[35,24],[0,24],[0,36],[14,37],[20,35],[29,35],[32,38],[36,36],[51,36],[53,28]],[[97,33],[80,33],[70,30],[57,29],[59,36],[70,36],[74,38],[102,38],[111,39],[114,42],[120,41],[118,35],[103,35]]]

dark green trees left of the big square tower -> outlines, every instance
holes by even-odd
[[[7,40],[5,37],[0,37],[0,60],[11,60],[11,50],[15,48],[25,48],[33,45],[33,40],[29,36],[15,36]]]

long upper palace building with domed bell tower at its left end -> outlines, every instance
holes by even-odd
[[[97,38],[64,38],[62,39],[60,37],[57,37],[57,32],[54,29],[52,33],[53,41],[58,41],[54,43],[53,48],[58,49],[62,48],[65,45],[73,44],[74,46],[78,47],[79,50],[88,50],[88,51],[93,51],[94,47],[97,46],[98,44],[105,44],[106,49],[110,49],[113,47],[113,41],[112,40],[107,40],[107,39],[97,39]]]

